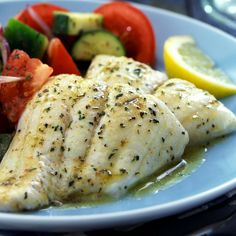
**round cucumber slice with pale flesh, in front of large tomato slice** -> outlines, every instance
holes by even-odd
[[[82,34],[72,48],[75,60],[92,60],[98,54],[125,56],[125,48],[118,37],[106,30]]]

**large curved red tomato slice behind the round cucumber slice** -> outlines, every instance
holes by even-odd
[[[149,19],[127,2],[111,2],[95,10],[104,16],[104,27],[123,42],[127,56],[155,64],[155,34]]]

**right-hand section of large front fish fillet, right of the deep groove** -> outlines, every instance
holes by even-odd
[[[179,161],[189,141],[179,121],[154,96],[123,84],[111,86],[108,94],[74,185],[86,199],[100,193],[121,196],[144,177]]]

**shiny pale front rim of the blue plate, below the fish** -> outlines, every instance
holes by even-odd
[[[182,213],[190,208],[197,207],[219,197],[227,191],[232,190],[235,186],[236,178],[208,191],[181,200],[114,213],[58,216],[0,213],[0,229],[17,229],[26,231],[40,230],[41,232],[75,232],[78,230],[96,230],[135,225],[140,222],[145,223],[147,221],[158,220],[173,214]],[[130,217],[132,218],[130,219]],[[23,225],[25,222],[27,222],[27,225]],[[45,228],[41,228],[42,226]]]

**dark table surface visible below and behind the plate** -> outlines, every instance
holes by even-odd
[[[207,18],[201,18],[199,9],[196,9],[195,3],[198,0],[136,0],[133,2],[148,4],[180,14],[189,15],[214,25],[214,22],[207,21]],[[191,5],[192,4],[192,5]],[[197,11],[197,13],[196,13]],[[216,25],[220,27],[220,25]],[[224,28],[222,28],[225,30]],[[231,32],[229,32],[231,33]],[[234,35],[235,32],[231,34]],[[65,236],[79,235],[236,235],[236,190],[221,196],[198,208],[191,209],[188,212],[135,225],[132,228],[106,229],[91,232],[77,232],[68,234],[59,234]],[[0,231],[0,236],[44,236],[55,235],[52,233],[40,232],[10,232]]]

